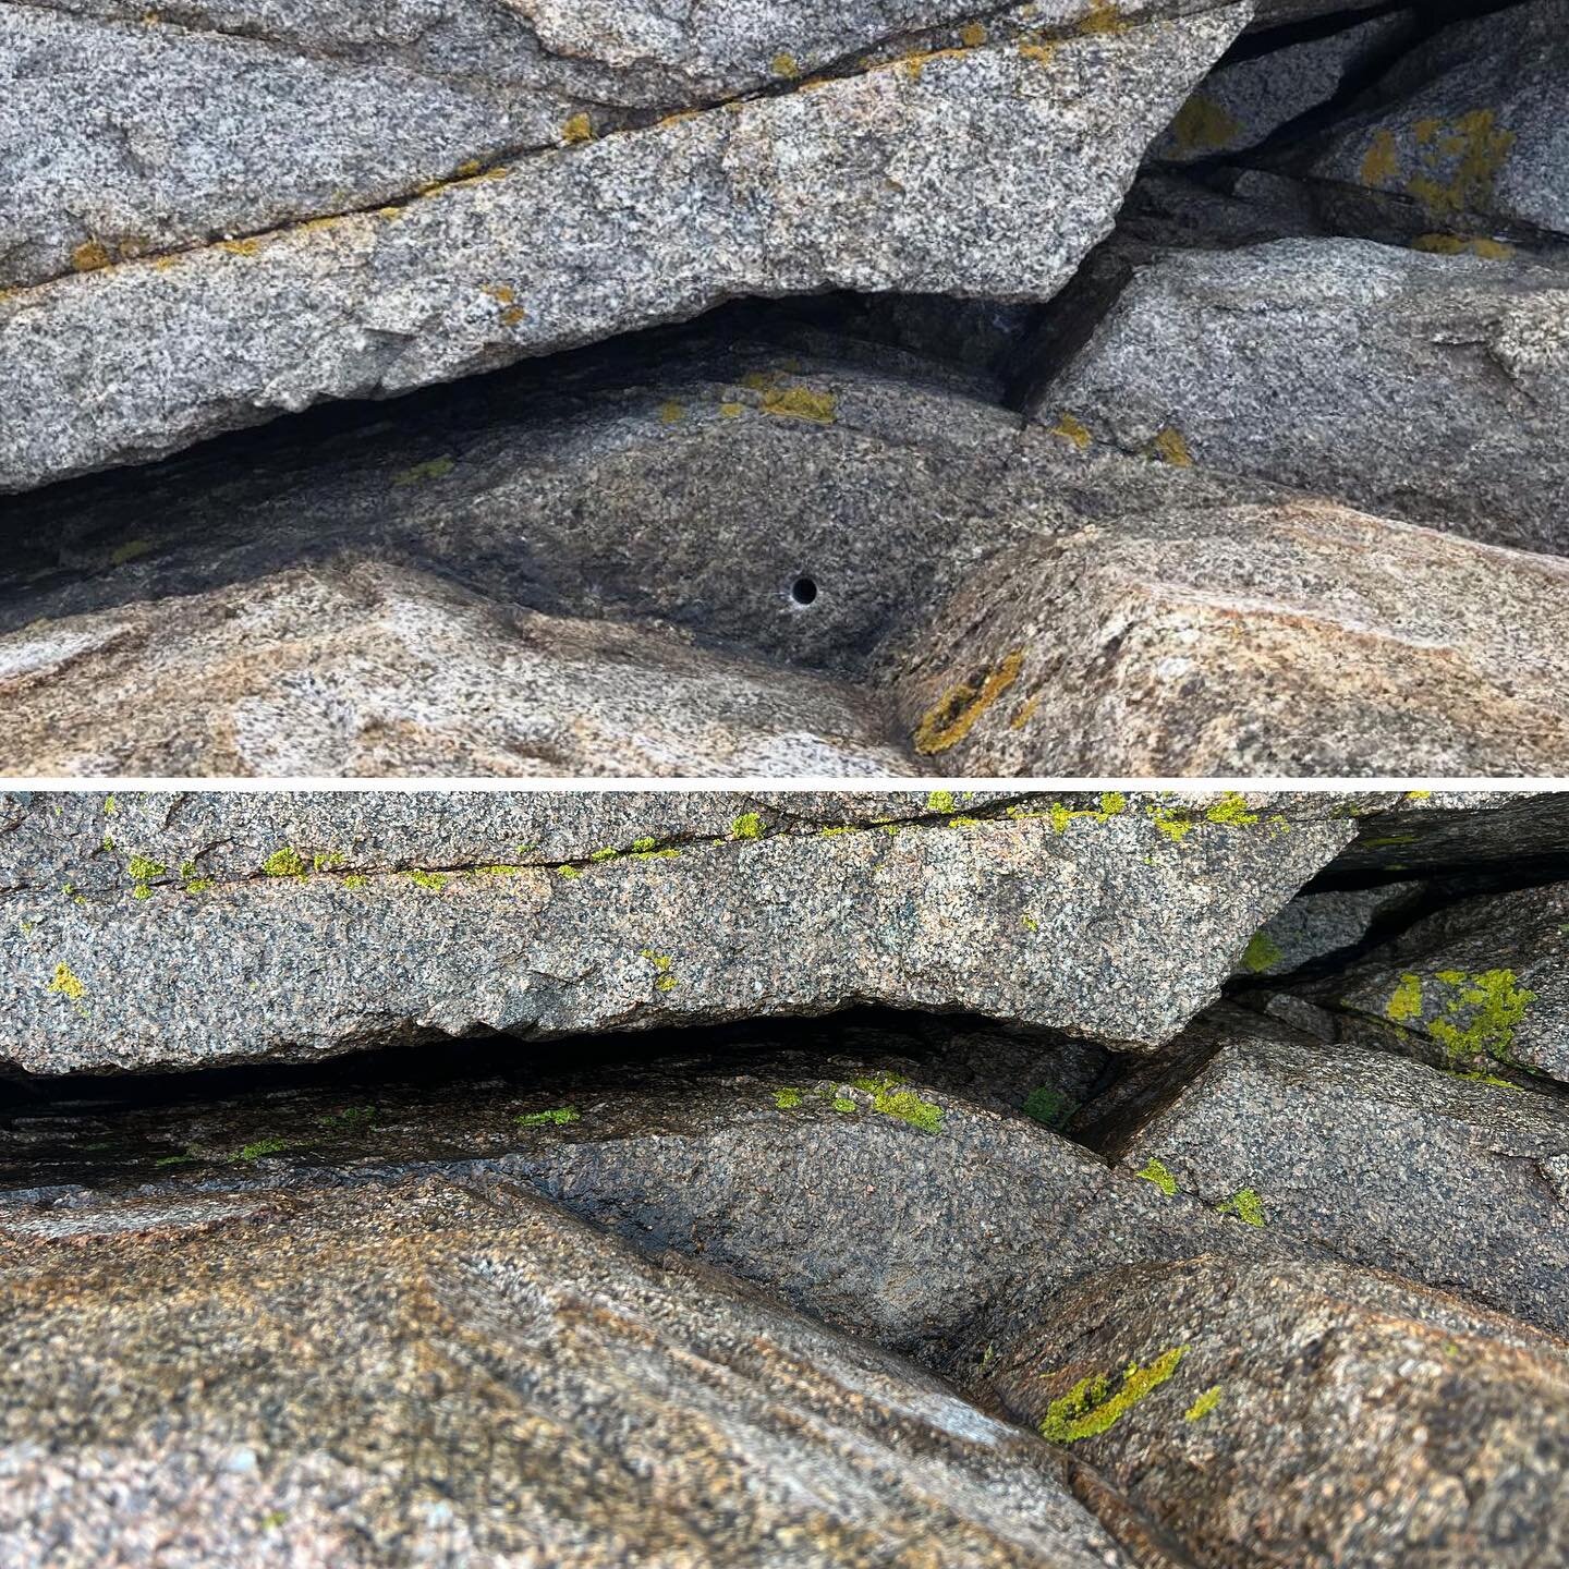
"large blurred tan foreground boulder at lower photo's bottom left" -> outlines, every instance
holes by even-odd
[[[8,1564],[1133,1564],[1039,1439],[504,1181],[24,1241],[0,1302]]]

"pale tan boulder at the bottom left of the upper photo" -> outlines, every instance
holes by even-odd
[[[901,775],[822,676],[337,557],[0,635],[9,775]]]

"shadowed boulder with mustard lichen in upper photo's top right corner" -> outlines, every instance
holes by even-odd
[[[1569,3],[1527,0],[1404,55],[1323,137],[1282,154],[1327,212],[1373,213],[1428,243],[1569,235],[1563,155]]]

